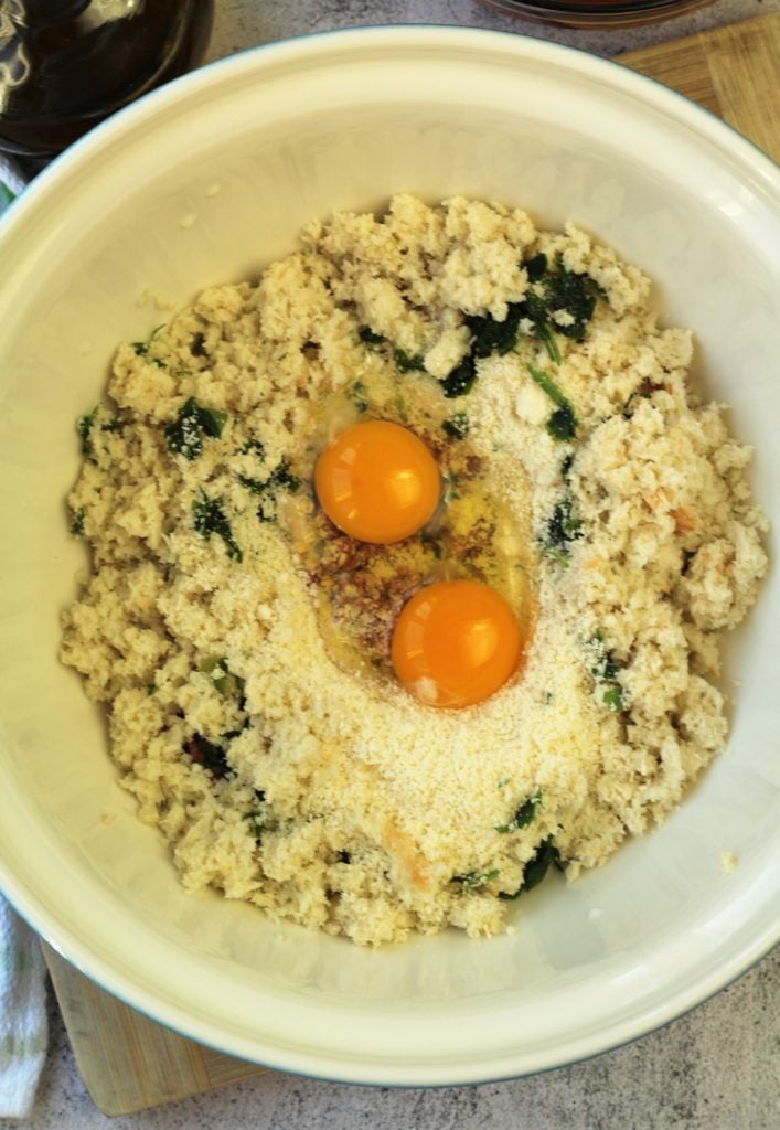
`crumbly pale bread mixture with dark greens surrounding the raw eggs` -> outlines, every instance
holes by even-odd
[[[544,333],[521,318],[445,395],[475,327],[541,293],[539,253],[597,284],[582,339],[565,307]],[[574,878],[665,818],[723,747],[719,643],[766,567],[751,453],[686,386],[691,356],[645,276],[574,224],[409,195],[313,223],[257,284],[119,347],[79,424],[92,568],[62,658],[188,889],[358,944],[478,937],[545,861]],[[525,671],[482,704],[422,706],[323,629],[311,553],[338,541],[312,467],[361,416],[467,451],[527,531]]]

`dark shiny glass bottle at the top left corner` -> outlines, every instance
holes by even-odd
[[[0,149],[41,167],[202,59],[213,0],[0,0]]]

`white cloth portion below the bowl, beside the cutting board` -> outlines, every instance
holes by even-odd
[[[47,1037],[41,944],[0,895],[0,1119],[29,1115]]]

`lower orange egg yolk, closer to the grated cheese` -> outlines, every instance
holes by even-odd
[[[478,581],[419,589],[393,629],[390,658],[400,683],[427,706],[470,706],[517,670],[522,641],[504,598]]]

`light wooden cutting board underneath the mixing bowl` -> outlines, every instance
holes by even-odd
[[[780,14],[621,55],[725,119],[780,159]],[[128,1114],[261,1075],[162,1028],[44,946],[76,1061],[95,1105]]]

